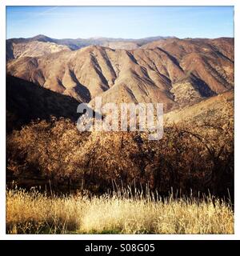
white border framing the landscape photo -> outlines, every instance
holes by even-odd
[[[234,6],[234,38],[235,38],[235,56],[240,56],[239,53],[239,36],[236,33],[240,31],[240,4],[238,0],[2,0],[0,2],[0,27],[1,35],[6,34],[6,6]],[[214,22],[214,21],[213,21]],[[36,32],[36,34],[38,34]],[[239,98],[239,74],[236,70],[240,68],[240,60],[235,58],[235,218],[234,218],[234,234],[6,234],[6,36],[0,38],[0,78],[1,78],[1,100],[0,106],[2,110],[2,122],[0,126],[0,164],[1,164],[1,178],[0,178],[0,239],[5,240],[38,240],[38,239],[52,239],[52,240],[230,240],[240,239],[240,165],[236,156],[240,155],[239,143],[240,138],[238,130],[240,127],[240,119],[238,118],[238,110],[240,110]]]

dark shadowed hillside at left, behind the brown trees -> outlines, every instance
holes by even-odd
[[[79,102],[69,96],[46,90],[32,82],[6,77],[6,128],[8,131],[40,118],[50,116],[77,120]]]

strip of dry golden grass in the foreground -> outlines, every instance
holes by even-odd
[[[234,213],[218,199],[153,200],[140,194],[48,197],[8,190],[9,234],[233,234]]]

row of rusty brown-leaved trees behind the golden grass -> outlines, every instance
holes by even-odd
[[[232,107],[210,121],[166,124],[163,138],[140,132],[83,132],[68,119],[52,118],[7,136],[7,174],[44,178],[51,189],[84,187],[95,193],[136,186],[233,195]],[[229,192],[227,192],[229,191]]]

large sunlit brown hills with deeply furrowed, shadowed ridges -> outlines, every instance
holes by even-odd
[[[166,110],[233,89],[232,38],[169,38],[150,44],[22,57],[9,62],[7,72],[82,102],[101,95],[103,102],[163,102]]]

